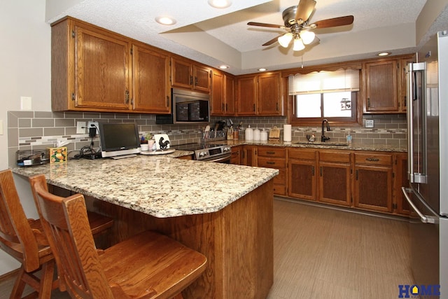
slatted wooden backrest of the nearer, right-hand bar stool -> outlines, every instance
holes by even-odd
[[[48,192],[43,175],[29,181],[67,291],[75,298],[113,298],[94,244],[83,195],[53,195]]]

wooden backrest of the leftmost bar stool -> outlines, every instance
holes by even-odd
[[[41,232],[31,229],[20,198],[15,188],[13,172],[0,172],[0,246],[14,258],[20,260],[25,271],[40,267],[38,240]],[[41,235],[42,238],[42,235]],[[45,240],[46,242],[46,240]],[[41,243],[41,242],[39,242]]]

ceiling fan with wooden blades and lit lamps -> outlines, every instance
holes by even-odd
[[[278,41],[280,46],[287,48],[290,41],[293,40],[293,50],[300,51],[305,48],[304,45],[309,45],[314,41],[315,34],[311,29],[338,27],[351,25],[353,23],[353,15],[309,23],[309,16],[314,11],[315,6],[315,0],[299,0],[297,6],[286,8],[283,11],[283,22],[285,25],[273,25],[258,22],[248,22],[247,25],[286,29],[288,32],[276,36],[274,39],[263,43],[262,46],[270,46]]]

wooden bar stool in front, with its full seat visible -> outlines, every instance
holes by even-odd
[[[201,253],[153,231],[97,251],[83,195],[48,193],[43,175],[30,182],[72,298],[182,298],[181,291],[207,266]]]

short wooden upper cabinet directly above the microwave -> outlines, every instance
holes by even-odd
[[[211,69],[183,57],[171,58],[171,85],[176,88],[210,92]]]

